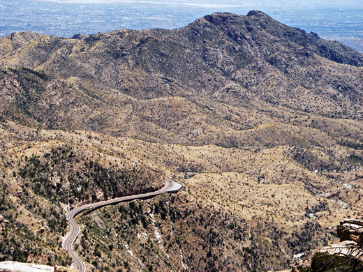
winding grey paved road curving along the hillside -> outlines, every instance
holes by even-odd
[[[160,195],[163,192],[177,192],[182,188],[181,184],[179,184],[175,181],[172,181],[171,179],[166,178],[165,181],[166,181],[165,186],[163,188],[161,188],[160,190],[157,190],[154,192],[146,192],[144,194],[139,194],[139,195],[128,195],[126,197],[117,197],[114,199],[109,199],[109,200],[105,200],[105,201],[101,201],[101,202],[97,202],[97,203],[87,204],[84,206],[77,207],[71,211],[68,211],[68,213],[66,214],[66,218],[69,221],[71,231],[66,236],[66,239],[64,239],[64,241],[62,243],[62,247],[65,250],[67,250],[69,252],[69,254],[71,255],[73,262],[75,263],[75,269],[78,269],[81,272],[86,271],[86,266],[84,265],[84,263],[82,262],[80,257],[75,255],[75,252],[73,252],[73,250],[72,250],[72,244],[74,243],[78,234],[80,234],[80,227],[77,225],[77,223],[74,220],[74,218],[75,218],[75,216],[77,216],[77,214],[82,213],[82,211],[85,211],[87,209],[95,209],[100,206],[107,206],[110,204],[115,204],[117,202],[130,201],[133,199],[144,198],[144,197],[152,197],[154,195]]]

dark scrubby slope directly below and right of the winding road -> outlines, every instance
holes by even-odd
[[[94,271],[283,269],[289,256],[332,239],[313,221],[292,232],[271,218],[246,220],[185,192],[104,207],[80,222],[78,252]]]

